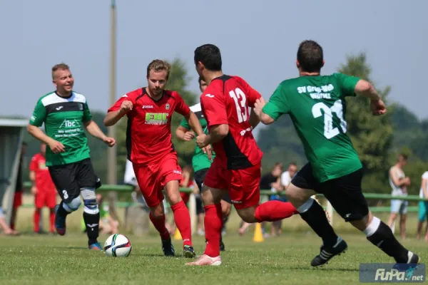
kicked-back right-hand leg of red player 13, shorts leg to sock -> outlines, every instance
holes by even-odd
[[[290,202],[270,200],[259,204],[260,165],[230,170],[228,175],[230,199],[244,222],[275,222],[298,213]]]

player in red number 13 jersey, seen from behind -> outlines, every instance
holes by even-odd
[[[195,49],[196,71],[208,87],[200,95],[200,105],[208,123],[209,135],[198,135],[199,147],[213,144],[215,158],[203,183],[205,208],[205,252],[189,265],[220,265],[220,200],[229,192],[236,212],[244,222],[274,222],[297,214],[290,202],[260,202],[260,167],[263,152],[252,130],[258,116],[248,108],[261,97],[238,76],[227,76],[221,69],[220,49],[205,44]]]

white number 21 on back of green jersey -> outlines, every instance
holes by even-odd
[[[337,118],[340,120],[340,128],[342,129],[342,132],[346,133],[347,123],[343,119],[342,100],[337,100],[330,108],[328,108],[324,103],[316,103],[312,107],[312,115],[314,118],[322,116],[321,110],[324,111],[324,136],[327,140],[334,138],[340,133],[338,128],[333,128],[333,113],[335,113]]]

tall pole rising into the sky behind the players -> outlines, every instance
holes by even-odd
[[[111,0],[111,26],[110,26],[110,105],[116,102],[116,0]],[[108,136],[116,138],[116,125],[108,128]],[[116,146],[108,148],[108,184],[117,184]],[[110,214],[118,219],[116,211],[117,194],[108,192]]]

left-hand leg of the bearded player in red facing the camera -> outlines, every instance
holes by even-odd
[[[157,179],[158,167],[156,167],[156,165],[138,165],[133,163],[133,170],[144,201],[147,207],[150,208],[150,220],[161,236],[163,254],[167,257],[173,257],[175,255],[175,250],[171,241],[170,232],[165,227],[163,194],[161,185],[159,185]]]

